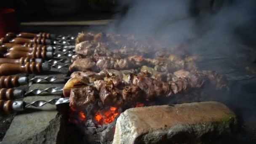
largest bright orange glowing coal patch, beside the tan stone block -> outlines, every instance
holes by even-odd
[[[115,117],[120,114],[117,110],[117,107],[110,107],[104,112],[97,112],[94,119],[98,121],[100,125],[103,125],[103,123],[112,123],[115,120]]]

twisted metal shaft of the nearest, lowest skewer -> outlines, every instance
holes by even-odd
[[[39,100],[39,101],[33,101],[32,103],[26,103],[26,107],[34,106],[34,107],[42,107],[45,104],[63,104],[63,103],[69,103],[69,97],[67,98],[59,98],[59,99],[51,99],[49,101]]]

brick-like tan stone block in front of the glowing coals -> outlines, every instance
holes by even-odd
[[[214,143],[236,124],[235,113],[214,101],[131,108],[117,118],[113,144]]]

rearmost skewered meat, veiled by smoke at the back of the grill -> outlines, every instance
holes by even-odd
[[[166,48],[166,46],[152,39],[138,41],[134,40],[134,38],[104,33],[96,35],[81,33],[77,37],[75,51],[82,54],[83,57],[98,55],[120,56],[122,58],[133,55],[168,57],[171,53],[184,56],[186,53],[181,47]]]

